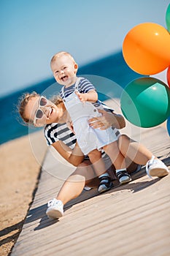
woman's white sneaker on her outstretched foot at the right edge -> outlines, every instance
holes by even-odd
[[[147,162],[146,172],[147,175],[152,178],[152,176],[163,177],[169,174],[168,167],[159,159],[152,158]]]

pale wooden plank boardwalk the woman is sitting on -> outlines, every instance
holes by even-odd
[[[170,165],[166,129],[142,129],[141,141]],[[34,202],[12,256],[170,255],[170,175],[150,179],[143,167],[130,184],[102,195],[96,189],[83,191],[66,204],[64,217],[50,220],[45,215],[47,201],[72,170],[47,151]]]

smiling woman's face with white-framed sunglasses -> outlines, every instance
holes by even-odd
[[[62,105],[62,104],[60,104]],[[63,108],[56,106],[45,97],[32,97],[29,99],[25,108],[25,117],[36,127],[42,127],[45,124],[58,123],[63,116]]]

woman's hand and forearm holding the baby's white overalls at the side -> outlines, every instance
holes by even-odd
[[[89,125],[93,129],[107,129],[109,127],[115,127],[117,129],[122,129],[125,127],[125,119],[121,115],[115,113],[107,112],[105,110],[98,110],[101,116],[90,118]]]

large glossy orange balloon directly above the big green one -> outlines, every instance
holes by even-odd
[[[170,34],[156,23],[141,23],[128,31],[123,57],[131,69],[154,75],[170,66]]]

